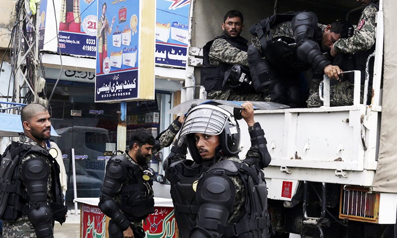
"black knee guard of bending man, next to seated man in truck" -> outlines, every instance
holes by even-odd
[[[247,54],[255,91],[261,92],[270,84],[272,78],[269,63],[266,59],[261,58],[261,53],[253,45],[248,47]]]

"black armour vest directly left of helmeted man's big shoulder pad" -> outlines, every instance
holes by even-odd
[[[196,186],[199,177],[208,167],[182,160],[171,165],[169,180],[171,197],[174,203],[175,219],[182,238],[189,238],[189,233],[196,226],[199,207],[196,202]]]

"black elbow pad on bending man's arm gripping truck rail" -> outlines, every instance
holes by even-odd
[[[296,49],[296,55],[299,59],[310,63],[313,68],[319,70],[324,70],[326,65],[331,64],[331,61],[327,60],[321,52],[320,46],[312,40],[306,40],[298,46]]]

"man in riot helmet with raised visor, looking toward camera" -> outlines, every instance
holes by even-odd
[[[263,185],[258,192],[261,196],[250,196],[254,188],[245,182],[243,178],[246,177],[240,169],[251,171],[253,177],[261,177],[261,169],[270,163],[270,155],[265,133],[254,120],[252,103],[246,102],[242,107],[241,116],[248,125],[252,142],[245,160],[237,156],[240,152],[237,121],[227,111],[204,104],[192,108],[186,115],[179,143],[172,147],[164,162],[182,238],[268,237],[265,181],[258,180]],[[193,161],[186,159],[187,147]],[[211,190],[211,184],[218,184],[225,190]],[[252,204],[262,204],[262,207]],[[252,207],[255,211],[250,210]],[[248,214],[253,216],[248,217]],[[256,219],[263,220],[258,223]],[[248,226],[248,221],[258,226]]]

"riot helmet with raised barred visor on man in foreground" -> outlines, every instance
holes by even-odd
[[[179,135],[178,145],[186,140],[190,154],[196,163],[202,159],[196,147],[195,133],[219,135],[220,145],[215,154],[237,155],[240,152],[240,127],[231,113],[223,108],[202,104],[192,108],[186,115]]]

